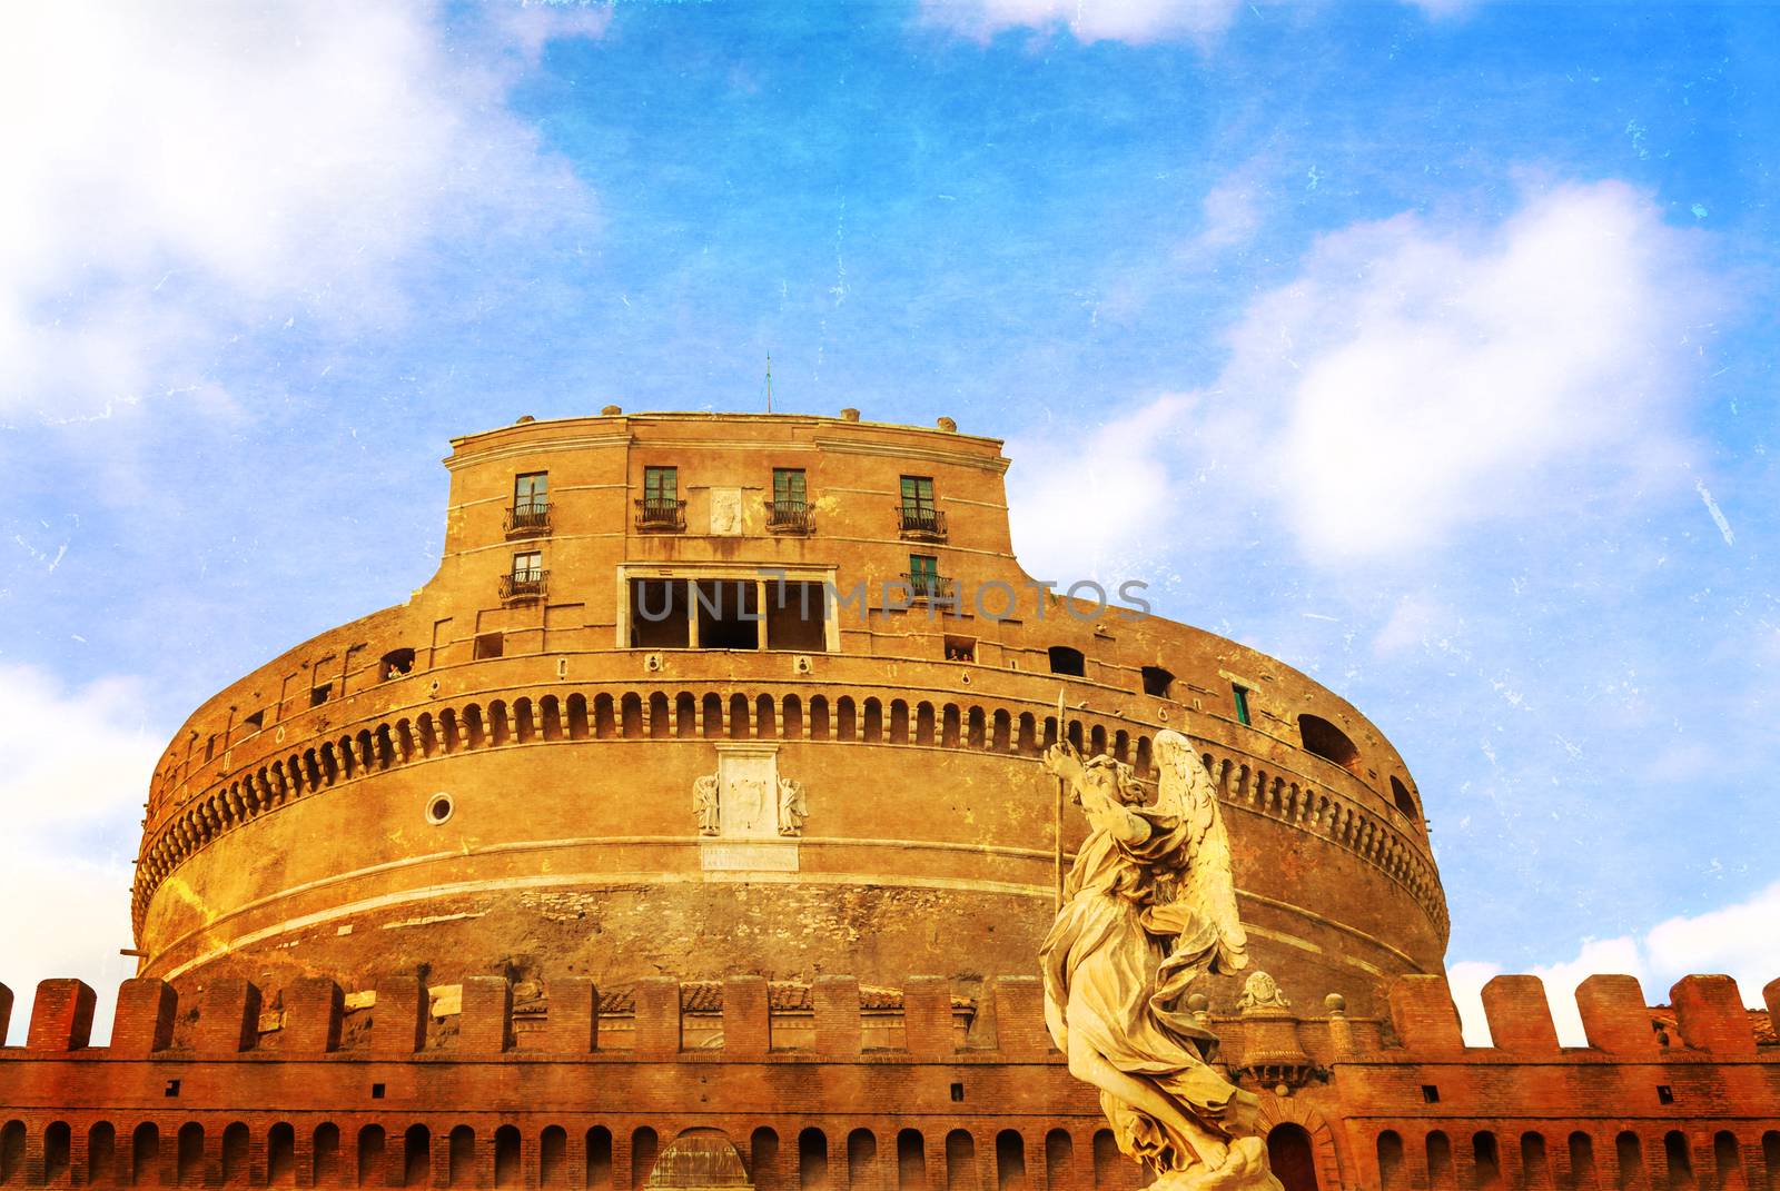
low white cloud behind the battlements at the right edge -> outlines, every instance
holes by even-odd
[[[1746,901],[1696,915],[1677,915],[1650,928],[1643,938],[1588,938],[1574,960],[1529,968],[1545,983],[1558,1041],[1588,1045],[1575,986],[1595,974],[1636,976],[1650,1002],[1666,1002],[1670,988],[1684,976],[1721,974],[1737,981],[1743,1002],[1762,1006],[1762,988],[1780,977],[1780,881]],[[1472,1047],[1490,1045],[1483,1018],[1481,990],[1502,972],[1497,963],[1467,960],[1447,967],[1452,1001]]]

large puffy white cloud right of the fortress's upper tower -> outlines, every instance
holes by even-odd
[[[1620,182],[1531,194],[1495,226],[1404,214],[1328,235],[1250,304],[1210,386],[1107,427],[1143,427],[1121,452],[1059,443],[1082,466],[1052,504],[1159,475],[1148,504],[1184,506],[1209,475],[1226,516],[1246,504],[1307,559],[1365,564],[1684,482],[1679,409],[1718,304],[1687,235]]]

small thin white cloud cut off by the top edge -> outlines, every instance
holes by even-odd
[[[1241,0],[926,0],[922,14],[968,37],[1063,25],[1077,41],[1148,43],[1216,37]]]

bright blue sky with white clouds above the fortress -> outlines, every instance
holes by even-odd
[[[14,5],[0,979],[153,757],[436,563],[452,434],[1009,440],[1045,577],[1362,707],[1463,986],[1780,976],[1769,5]]]

